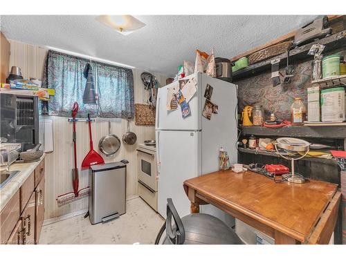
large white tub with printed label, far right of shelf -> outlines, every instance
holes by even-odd
[[[345,121],[345,88],[343,86],[321,90],[322,122]]]

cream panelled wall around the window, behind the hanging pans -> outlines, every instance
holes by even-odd
[[[24,78],[42,78],[46,48],[24,44],[18,41],[10,41],[11,55],[10,67],[19,66]],[[134,94],[135,103],[145,103],[149,97],[147,90],[144,90],[140,73],[143,70],[134,69]],[[165,85],[167,79],[164,75],[155,74],[161,86]],[[45,219],[59,217],[68,213],[73,213],[88,207],[88,199],[84,198],[63,207],[57,207],[55,199],[57,195],[72,191],[73,168],[73,142],[72,124],[67,122],[65,117],[45,116],[45,119],[53,120],[53,144],[54,151],[46,155],[46,213]],[[112,133],[118,135],[120,140],[127,131],[125,119],[111,119]],[[116,162],[122,159],[129,160],[127,165],[127,198],[138,195],[137,189],[137,157],[136,148],[138,143],[144,140],[154,140],[154,126],[136,126],[134,121],[130,122],[131,131],[137,135],[136,144],[129,146],[121,144],[120,150],[113,157],[104,156],[106,162]],[[96,119],[92,124],[93,142],[95,150],[98,150],[98,141],[108,133],[108,120]],[[78,165],[89,151],[89,131],[86,123],[77,124],[77,156]],[[80,171],[80,188],[88,186],[88,171]]]

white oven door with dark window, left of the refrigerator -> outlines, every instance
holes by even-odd
[[[138,182],[149,191],[157,191],[155,153],[137,149]]]

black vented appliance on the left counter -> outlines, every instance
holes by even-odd
[[[0,93],[1,142],[21,143],[22,151],[39,142],[37,96]]]

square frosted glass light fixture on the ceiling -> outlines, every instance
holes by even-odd
[[[145,23],[139,21],[131,15],[99,15],[95,17],[96,21],[111,27],[122,35],[129,35],[145,26]]]

